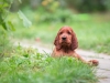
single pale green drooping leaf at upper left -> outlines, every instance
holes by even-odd
[[[19,18],[23,21],[23,25],[25,28],[29,28],[32,25],[32,22],[23,14],[22,11],[19,11],[18,14],[19,14]]]

